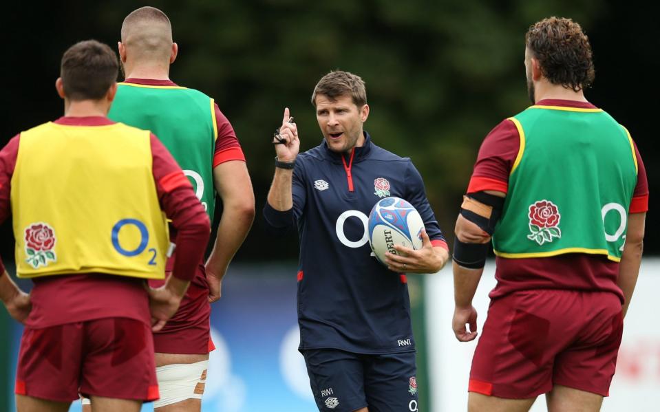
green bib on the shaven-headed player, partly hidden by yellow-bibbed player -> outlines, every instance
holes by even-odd
[[[180,86],[119,83],[108,117],[155,134],[181,166],[213,221],[217,123],[212,98]]]

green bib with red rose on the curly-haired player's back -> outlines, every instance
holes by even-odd
[[[520,150],[493,233],[495,254],[620,261],[637,184],[630,133],[602,109],[532,106],[509,120]]]

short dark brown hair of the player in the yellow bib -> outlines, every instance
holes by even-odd
[[[96,40],[80,41],[62,56],[60,77],[70,100],[98,100],[117,81],[117,55]]]

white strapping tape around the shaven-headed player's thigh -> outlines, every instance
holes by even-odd
[[[153,402],[153,407],[160,408],[187,399],[202,399],[208,367],[209,360],[157,367],[160,399]]]

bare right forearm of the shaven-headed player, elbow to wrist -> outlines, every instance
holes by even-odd
[[[224,277],[229,262],[248,235],[255,219],[255,209],[226,205],[222,211],[217,236],[206,267],[211,268],[219,279]]]

